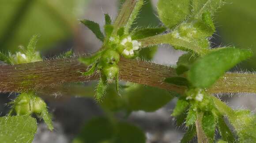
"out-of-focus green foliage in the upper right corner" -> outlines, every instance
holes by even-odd
[[[255,5],[255,0],[227,0],[227,4],[216,14],[218,34],[223,45],[252,49],[256,53]],[[255,61],[256,54],[241,66],[248,70],[255,69]]]

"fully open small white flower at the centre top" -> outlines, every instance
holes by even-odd
[[[130,43],[130,44],[127,44],[127,43]],[[120,44],[125,46],[123,54],[126,56],[134,55],[134,50],[139,50],[139,46],[141,45],[137,40],[132,40],[131,36],[124,38]],[[132,45],[132,47],[130,47],[129,45]]]

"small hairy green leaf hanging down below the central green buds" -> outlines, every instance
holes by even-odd
[[[99,83],[98,83],[97,88],[96,88],[96,95],[95,95],[96,101],[98,101],[98,102],[102,101],[107,87],[108,87],[108,85],[106,83],[106,80],[101,77],[99,79]]]

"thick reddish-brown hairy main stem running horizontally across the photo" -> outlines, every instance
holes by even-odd
[[[163,82],[166,77],[177,76],[175,69],[160,64],[121,58],[120,80],[184,93],[186,87]],[[34,62],[18,65],[0,65],[0,92],[21,92],[54,88],[68,82],[84,82],[98,79],[95,73],[83,77],[86,66],[77,57]],[[209,93],[256,93],[256,75],[227,73],[208,89]]]

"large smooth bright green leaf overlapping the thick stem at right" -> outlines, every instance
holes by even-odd
[[[197,60],[188,72],[188,80],[195,87],[207,88],[227,70],[252,56],[250,50],[223,48]]]

